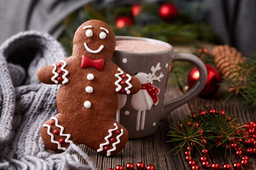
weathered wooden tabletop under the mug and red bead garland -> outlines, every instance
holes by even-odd
[[[183,94],[183,92],[178,90],[177,87],[168,86],[165,102],[175,99],[181,94]],[[166,141],[170,140],[170,136],[166,136],[166,134],[168,134],[168,131],[170,130],[169,125],[172,123],[177,125],[179,119],[185,118],[191,111],[196,111],[197,108],[203,108],[203,106],[211,106],[212,108],[216,108],[216,110],[224,110],[230,114],[234,114],[243,124],[252,120],[256,121],[255,109],[243,108],[241,104],[233,101],[223,103],[219,100],[214,101],[196,98],[186,105],[177,108],[175,111],[172,111],[166,120],[160,123],[159,129],[154,135],[143,139],[128,140],[125,148],[115,156],[103,156],[96,151],[90,150],[84,145],[81,145],[80,147],[88,154],[99,170],[107,170],[109,167],[114,168],[117,164],[124,166],[128,162],[136,164],[139,161],[142,161],[146,165],[153,164],[155,170],[190,170],[190,167],[184,161],[184,149],[176,155],[175,153],[177,150],[170,152],[170,150],[177,146],[177,142],[167,143]],[[200,154],[198,152],[193,153],[192,157],[196,161],[196,164],[199,165],[200,169],[203,170],[199,161]],[[80,160],[84,162],[82,158],[80,158]],[[207,160],[209,161],[209,164],[216,162],[220,166],[224,163],[232,165],[233,162],[240,162],[240,159],[234,154],[232,154],[230,161],[229,153],[224,156],[223,150],[218,149],[209,149]],[[244,169],[256,170],[255,166],[255,158],[250,157],[248,167]]]

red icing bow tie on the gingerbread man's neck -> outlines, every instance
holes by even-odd
[[[89,59],[87,56],[82,55],[81,68],[94,67],[99,71],[102,71],[104,66],[104,59]]]

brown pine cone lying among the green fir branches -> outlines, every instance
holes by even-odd
[[[229,45],[216,45],[210,54],[212,54],[216,68],[224,77],[230,80],[236,80],[237,76],[239,76],[238,71],[241,68],[238,63],[246,62],[246,58],[236,48]],[[243,82],[241,75],[238,80],[239,84]]]

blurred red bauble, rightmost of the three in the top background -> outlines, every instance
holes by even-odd
[[[169,21],[177,17],[178,10],[176,6],[170,3],[164,3],[159,8],[159,16],[162,20]]]

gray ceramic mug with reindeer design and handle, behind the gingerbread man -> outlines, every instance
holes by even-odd
[[[112,61],[141,82],[140,91],[134,95],[118,95],[116,120],[129,132],[129,138],[142,138],[155,133],[159,122],[168,113],[197,96],[207,81],[207,69],[196,56],[174,53],[172,45],[148,38],[116,36],[116,40],[142,40],[166,46],[164,51],[134,52],[116,50]],[[186,94],[163,104],[171,63],[184,61],[194,64],[200,73],[195,86]],[[135,75],[136,74],[136,75]],[[149,80],[149,81],[148,81]]]

